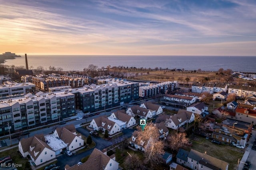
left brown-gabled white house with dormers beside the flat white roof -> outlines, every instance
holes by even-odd
[[[22,138],[18,147],[22,156],[26,157],[29,155],[36,166],[56,157],[52,148],[46,144],[43,134]]]

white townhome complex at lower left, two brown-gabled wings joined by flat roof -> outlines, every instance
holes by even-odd
[[[56,158],[65,150],[75,150],[84,146],[81,134],[74,125],[56,128],[54,133],[44,136],[36,134],[30,138],[22,138],[18,148],[24,158],[30,156],[36,166]]]

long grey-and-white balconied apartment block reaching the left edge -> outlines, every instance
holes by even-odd
[[[0,133],[53,123],[75,115],[75,95],[38,92],[0,102]]]

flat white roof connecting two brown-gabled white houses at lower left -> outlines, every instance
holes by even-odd
[[[54,151],[66,148],[68,146],[68,144],[66,144],[60,138],[55,136],[55,134],[46,135],[46,136],[44,136],[44,138],[45,138],[45,141],[47,141],[47,144]]]

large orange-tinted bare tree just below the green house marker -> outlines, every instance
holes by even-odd
[[[138,127],[138,141],[147,142],[145,144],[145,163],[154,166],[162,160],[164,154],[164,144],[159,140],[159,130],[154,123],[147,123],[144,131]]]

